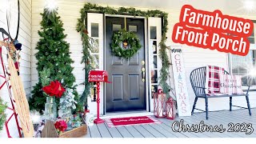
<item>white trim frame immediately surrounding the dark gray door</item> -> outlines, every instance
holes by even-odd
[[[148,18],[146,17],[138,17],[131,15],[118,15],[118,14],[103,14],[103,70],[106,70],[106,17],[118,17],[118,18],[143,18],[144,19],[144,61],[146,66],[146,81],[145,81],[145,101],[146,101],[146,111],[150,112],[150,64],[149,64],[149,56],[150,50],[148,50]],[[103,85],[103,115],[106,115],[106,83]]]

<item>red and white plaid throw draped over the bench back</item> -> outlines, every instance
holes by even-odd
[[[218,66],[207,66],[206,73],[208,74],[208,94],[219,93],[219,74],[224,74],[224,68]],[[206,84],[207,84],[206,83]]]

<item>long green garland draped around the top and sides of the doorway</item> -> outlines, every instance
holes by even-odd
[[[160,50],[159,55],[162,60],[162,69],[160,70],[160,81],[159,85],[162,86],[163,92],[170,97],[170,86],[168,85],[167,81],[168,78],[170,78],[170,61],[168,58],[168,55],[166,53],[166,50],[168,47],[166,46],[166,32],[168,30],[168,14],[160,11],[160,10],[136,10],[133,7],[125,8],[120,7],[118,10],[115,10],[114,8],[110,6],[98,6],[96,4],[86,3],[83,8],[80,10],[81,18],[78,18],[78,24],[77,24],[77,30],[81,34],[82,37],[82,62],[85,63],[85,90],[82,93],[82,96],[80,98],[81,102],[86,102],[87,96],[90,94],[90,88],[92,87],[91,82],[88,82],[88,74],[89,71],[92,70],[91,62],[93,62],[93,58],[90,55],[90,50],[92,46],[90,46],[90,37],[88,36],[87,32],[87,13],[94,12],[94,13],[100,13],[100,14],[119,14],[119,15],[132,15],[132,16],[139,16],[139,17],[156,17],[156,18],[162,18],[162,39],[159,43]]]

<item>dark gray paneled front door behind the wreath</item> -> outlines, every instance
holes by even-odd
[[[124,18],[106,17],[106,70],[112,82],[106,84],[106,112],[146,110],[145,82],[142,82],[144,19],[126,18],[126,30],[134,31],[142,45],[128,60],[114,56],[110,48],[114,31],[124,28]]]

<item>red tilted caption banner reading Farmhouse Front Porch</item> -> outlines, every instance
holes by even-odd
[[[245,56],[250,49],[248,37],[253,27],[249,19],[223,15],[220,10],[209,12],[185,5],[182,6],[179,22],[174,25],[172,40]]]

